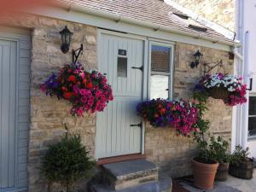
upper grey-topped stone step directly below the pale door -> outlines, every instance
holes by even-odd
[[[158,168],[148,160],[126,160],[102,166],[102,176],[110,189],[121,190],[158,181]]]

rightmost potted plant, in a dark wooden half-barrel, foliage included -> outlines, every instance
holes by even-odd
[[[243,179],[253,177],[253,159],[248,157],[249,148],[243,149],[236,146],[235,151],[231,154],[230,175]]]

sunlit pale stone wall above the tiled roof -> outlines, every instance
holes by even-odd
[[[208,20],[235,31],[235,0],[172,0]]]

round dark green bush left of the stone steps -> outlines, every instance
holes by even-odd
[[[43,157],[42,173],[49,183],[61,183],[67,192],[80,177],[89,175],[95,165],[81,143],[81,136],[62,137],[61,142],[49,146]]]

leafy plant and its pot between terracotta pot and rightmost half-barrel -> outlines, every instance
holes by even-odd
[[[218,161],[218,170],[215,180],[225,181],[228,177],[230,166],[230,154],[227,153],[229,143],[224,141],[223,137],[211,137],[209,147],[211,159]]]

